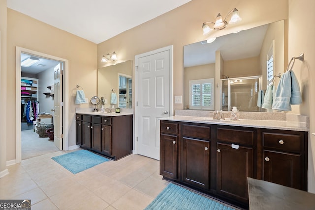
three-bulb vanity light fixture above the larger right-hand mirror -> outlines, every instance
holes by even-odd
[[[227,26],[227,21],[226,21],[226,18],[230,15],[231,15],[231,19],[230,21],[228,22],[229,24],[234,24],[234,23],[238,23],[242,20],[242,18],[240,17],[239,15],[239,12],[236,8],[232,9],[227,15],[226,17],[224,18],[224,20],[222,19],[222,15],[219,13],[217,15],[217,18],[216,18],[216,21],[215,22],[212,22],[212,21],[207,21],[207,22],[204,22],[202,24],[202,30],[203,30],[203,35],[207,35],[209,34],[213,29],[214,30],[222,30],[222,29],[225,29],[225,27]],[[211,23],[213,24],[213,29],[210,28],[210,26],[208,25],[208,23]]]

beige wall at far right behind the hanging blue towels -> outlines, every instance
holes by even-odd
[[[289,0],[289,43],[288,56],[305,54],[304,62],[297,60],[293,71],[300,83],[303,103],[293,105],[293,113],[310,116],[308,144],[308,190],[315,193],[315,28],[305,21],[315,20],[314,0]]]

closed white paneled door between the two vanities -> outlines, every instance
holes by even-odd
[[[159,160],[160,118],[172,113],[172,46],[136,56],[137,153]]]

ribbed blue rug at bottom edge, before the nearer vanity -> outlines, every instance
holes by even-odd
[[[235,209],[171,183],[144,210]]]

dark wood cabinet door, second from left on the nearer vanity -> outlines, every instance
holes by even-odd
[[[182,181],[202,189],[210,188],[210,142],[182,138]]]

